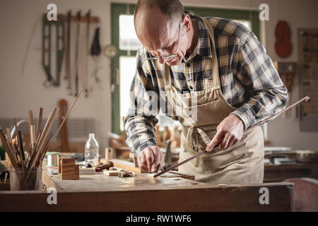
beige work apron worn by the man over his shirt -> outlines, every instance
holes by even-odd
[[[236,108],[226,102],[220,90],[218,61],[213,28],[204,18],[213,44],[211,88],[179,93],[171,85],[170,68],[165,64],[165,91],[173,112],[182,124],[179,162],[206,150],[216,134],[216,127]],[[190,113],[189,113],[190,112]],[[192,112],[192,114],[191,114]],[[215,148],[179,166],[179,172],[193,174],[197,181],[209,184],[258,184],[264,177],[264,136],[260,126],[244,133],[230,148]]]

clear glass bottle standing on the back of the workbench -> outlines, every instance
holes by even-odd
[[[99,145],[95,139],[95,133],[89,133],[88,141],[85,145],[85,164],[97,165],[99,159]]]

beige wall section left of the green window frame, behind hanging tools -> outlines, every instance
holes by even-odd
[[[67,81],[63,80],[63,71],[58,88],[45,88],[42,85],[46,76],[42,68],[41,18],[50,3],[57,4],[57,12],[64,14],[69,10],[73,14],[81,10],[83,15],[90,9],[91,15],[98,16],[101,20],[101,47],[110,43],[110,1],[1,0],[0,119],[27,118],[28,109],[33,109],[33,114],[37,117],[39,107],[45,109],[43,117],[47,118],[54,107],[57,107],[59,99],[65,98],[70,107],[75,98],[66,90]],[[91,27],[95,25],[92,24]],[[93,31],[91,29],[92,33]],[[30,39],[30,48],[25,58]],[[24,70],[21,71],[24,60]],[[52,64],[53,68],[54,66],[55,64]],[[103,150],[108,143],[107,133],[111,130],[110,60],[101,54],[98,66],[100,83],[94,85],[88,98],[81,95],[69,119],[95,119],[96,137]],[[72,141],[72,138],[69,140]]]

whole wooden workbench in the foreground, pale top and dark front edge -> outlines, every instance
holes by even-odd
[[[0,191],[0,211],[292,211],[293,184],[266,183],[213,186],[166,173],[135,173],[110,177],[102,172],[61,180],[49,171],[42,182],[57,189],[57,205],[47,203],[47,191]],[[269,204],[259,202],[269,189]],[[5,204],[5,205],[3,205]]]

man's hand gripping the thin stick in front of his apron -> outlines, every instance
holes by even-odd
[[[235,143],[241,140],[243,131],[243,121],[237,117],[237,115],[231,114],[220,122],[216,128],[216,136],[213,137],[211,143],[206,147],[206,150],[213,150],[218,143],[220,143],[219,147],[221,149],[235,145]]]

